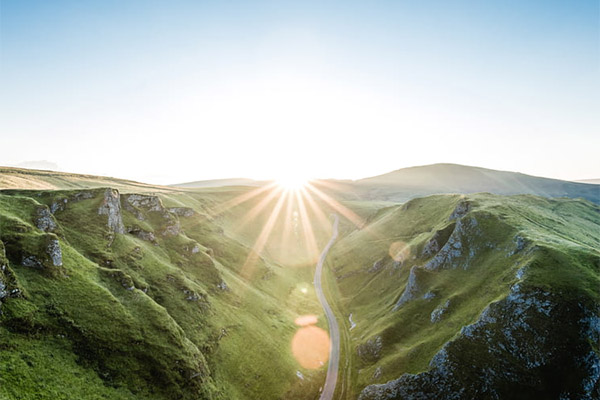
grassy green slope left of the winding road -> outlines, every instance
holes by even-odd
[[[322,371],[304,370],[290,351],[294,319],[320,313],[312,268],[286,268],[261,258],[250,271],[240,270],[248,256],[244,242],[251,243],[256,228],[232,232],[244,239],[238,241],[228,227],[249,205],[210,214],[215,204],[239,193],[163,194],[166,207],[198,212],[179,217],[177,236],[160,235],[165,222],[159,213],[144,212],[145,221],[139,221],[123,210],[126,226],[155,232],[155,246],[133,235],[111,235],[106,216],[97,213],[103,190],[91,192],[93,198],[81,201],[72,200],[81,191],[0,195],[0,240],[18,282],[13,286],[23,293],[2,305],[0,393],[22,398],[61,391],[63,398],[316,393]],[[18,249],[54,235],[33,225],[35,210],[62,198],[71,199],[55,214],[64,265],[21,266]],[[265,216],[257,218],[251,226],[260,226]],[[191,254],[194,244],[201,251]],[[40,248],[27,251],[38,254]],[[217,288],[221,281],[229,290]],[[135,289],[127,290],[130,286]],[[186,300],[190,293],[198,300]],[[52,359],[61,367],[47,368]]]

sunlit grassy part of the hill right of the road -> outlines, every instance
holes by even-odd
[[[410,268],[430,259],[423,255],[425,244],[434,232],[452,229],[449,216],[464,201],[471,203],[469,216],[477,219],[480,229],[468,245],[476,249],[474,258],[456,260],[469,267],[421,271],[419,299],[392,311]],[[586,201],[489,194],[466,200],[458,195],[430,196],[381,209],[369,225],[347,235],[332,251],[330,290],[339,293],[340,318],[347,319],[352,312],[357,323],[349,334],[351,350],[345,362],[351,375],[347,386],[352,387],[346,389],[345,398],[354,398],[367,384],[426,370],[431,357],[462,326],[506,296],[517,281],[516,271],[525,265],[529,285],[599,301],[599,211]],[[517,235],[530,251],[511,255]],[[407,246],[401,266],[390,258],[393,243]],[[369,272],[378,260],[383,267]],[[421,298],[428,291],[435,293],[433,300]],[[446,300],[451,304],[447,316],[432,324],[430,313]],[[380,356],[358,357],[357,347],[377,336],[383,341]],[[381,375],[374,378],[378,368]]]

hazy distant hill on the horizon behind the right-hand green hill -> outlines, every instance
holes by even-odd
[[[600,185],[541,178],[458,164],[403,168],[360,179],[353,184],[367,198],[406,201],[440,193],[490,192],[502,195],[534,194],[544,197],[581,197],[600,203]]]

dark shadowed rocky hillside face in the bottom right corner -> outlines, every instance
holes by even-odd
[[[359,399],[598,399],[600,310],[589,304],[515,285],[429,371],[367,386]]]

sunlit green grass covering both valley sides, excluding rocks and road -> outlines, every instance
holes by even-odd
[[[266,192],[222,209],[255,188],[171,189],[112,178],[2,173],[33,179],[30,187],[44,189],[0,192],[0,264],[6,265],[0,279],[18,289],[0,305],[0,398],[318,398],[325,368],[300,367],[291,340],[298,316],[317,315],[318,326],[327,326],[312,282],[316,257],[331,235],[330,205],[315,198],[322,212],[307,205],[304,220],[294,219],[294,211],[302,212],[298,204],[284,205],[272,219],[278,197],[268,201]],[[115,235],[97,212],[107,183],[127,193],[157,194],[165,208],[189,207],[195,214],[129,211],[122,201],[124,225],[156,239]],[[36,228],[39,207],[65,199],[64,210],[54,214],[57,230]],[[465,218],[478,225],[456,268],[418,270],[419,298],[392,311],[411,267],[430,260],[423,252],[434,235],[448,239],[457,226],[449,217],[465,201],[471,205]],[[599,209],[590,202],[475,194],[402,205],[348,196],[342,204],[366,225],[357,229],[341,221],[325,269],[324,290],[342,335],[340,398],[426,370],[463,326],[506,296],[522,267],[532,287],[600,300]],[[270,219],[271,233],[256,252],[252,247],[266,236]],[[174,222],[181,231],[163,234]],[[517,237],[524,249],[512,254]],[[44,256],[50,239],[60,242],[61,267]],[[43,268],[22,266],[29,254]],[[423,299],[429,291],[435,298]],[[432,324],[431,312],[447,300],[448,313]],[[357,324],[352,331],[350,313]],[[380,357],[361,359],[357,347],[378,336]]]

